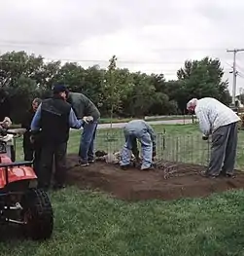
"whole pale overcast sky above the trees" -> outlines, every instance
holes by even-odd
[[[222,60],[231,91],[227,49],[244,48],[243,16],[241,0],[1,0],[0,53],[24,50],[85,67],[106,67],[117,55],[121,67],[166,79],[187,58],[209,55]],[[239,92],[244,52],[237,65]]]

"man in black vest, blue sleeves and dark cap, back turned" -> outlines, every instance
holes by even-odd
[[[31,130],[41,128],[42,152],[38,182],[48,189],[52,178],[52,160],[55,160],[54,188],[63,188],[66,179],[66,151],[69,128],[82,128],[71,105],[66,102],[66,88],[55,85],[52,98],[43,100],[31,123]]]

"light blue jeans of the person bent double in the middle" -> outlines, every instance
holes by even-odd
[[[142,166],[141,169],[149,168],[153,164],[153,142],[148,132],[140,134],[129,132],[125,135],[125,144],[122,148],[122,162],[121,165],[129,165],[131,159],[131,150],[136,146],[136,139],[142,145]]]

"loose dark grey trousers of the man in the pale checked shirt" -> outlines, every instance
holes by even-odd
[[[218,128],[212,135],[211,158],[208,174],[232,174],[237,148],[237,123]]]

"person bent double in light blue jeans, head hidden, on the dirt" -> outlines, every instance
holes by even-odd
[[[144,120],[132,120],[123,128],[125,144],[122,148],[122,169],[130,166],[131,153],[139,161],[137,139],[142,145],[141,170],[148,170],[153,167],[153,158],[156,156],[156,134],[154,129]]]

